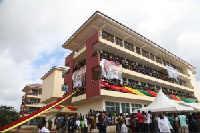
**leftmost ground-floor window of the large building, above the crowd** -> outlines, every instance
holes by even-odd
[[[106,113],[107,114],[110,112],[111,112],[111,114],[113,114],[115,111],[117,113],[120,113],[119,103],[106,101],[105,104],[106,104]]]

